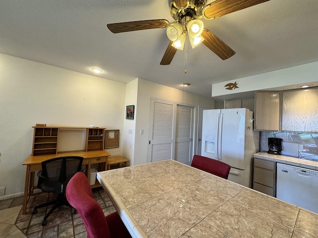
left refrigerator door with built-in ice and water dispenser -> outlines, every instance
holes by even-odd
[[[218,160],[218,128],[220,109],[203,110],[201,155]]]

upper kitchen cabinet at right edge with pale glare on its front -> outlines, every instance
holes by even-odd
[[[283,92],[282,129],[318,132],[318,88]]]

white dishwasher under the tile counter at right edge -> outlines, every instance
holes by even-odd
[[[318,213],[318,171],[277,163],[276,197]]]

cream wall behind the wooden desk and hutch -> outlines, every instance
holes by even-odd
[[[22,163],[31,154],[32,126],[93,124],[122,132],[125,94],[124,83],[0,54],[0,187],[5,195],[24,190]],[[122,147],[107,151],[121,155]]]

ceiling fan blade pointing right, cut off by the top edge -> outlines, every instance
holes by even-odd
[[[216,0],[203,9],[203,16],[213,19],[265,1],[269,0]]]

